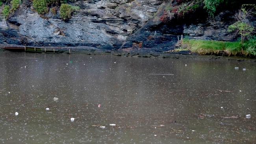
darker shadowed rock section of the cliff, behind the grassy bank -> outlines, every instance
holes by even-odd
[[[159,15],[157,17],[160,17]],[[234,23],[234,13],[223,11],[214,18],[200,18],[197,14],[194,20],[184,18],[183,22],[174,20],[163,24],[159,19],[149,20],[143,28],[128,37],[122,48],[132,47],[134,43],[141,43],[142,47],[158,47],[160,50],[171,50],[181,38],[234,41],[236,36],[228,32],[228,26]]]

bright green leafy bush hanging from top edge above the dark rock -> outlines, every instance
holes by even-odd
[[[204,8],[207,9],[208,14],[213,17],[216,7],[219,6],[224,0],[204,0]]]

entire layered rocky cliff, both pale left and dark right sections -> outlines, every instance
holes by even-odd
[[[30,46],[92,46],[102,49],[156,48],[170,50],[177,36],[233,41],[227,31],[236,10],[223,10],[208,17],[204,9],[164,23],[166,7],[176,0],[86,0],[70,20],[59,15],[39,15],[32,2],[24,0],[19,9],[0,20],[0,43]],[[2,6],[3,7],[3,6]],[[2,8],[1,8],[2,10]]]

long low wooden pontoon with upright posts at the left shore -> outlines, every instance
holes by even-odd
[[[57,53],[59,50],[50,49],[50,48],[36,48],[31,46],[24,46],[24,47],[9,47],[5,46],[2,49],[14,51],[14,52],[37,52],[37,53]]]

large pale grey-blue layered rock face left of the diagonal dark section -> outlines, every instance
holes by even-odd
[[[29,1],[0,21],[0,42],[30,46],[92,46],[118,49],[158,10],[163,0],[89,0],[64,22],[51,12],[38,15]]]

